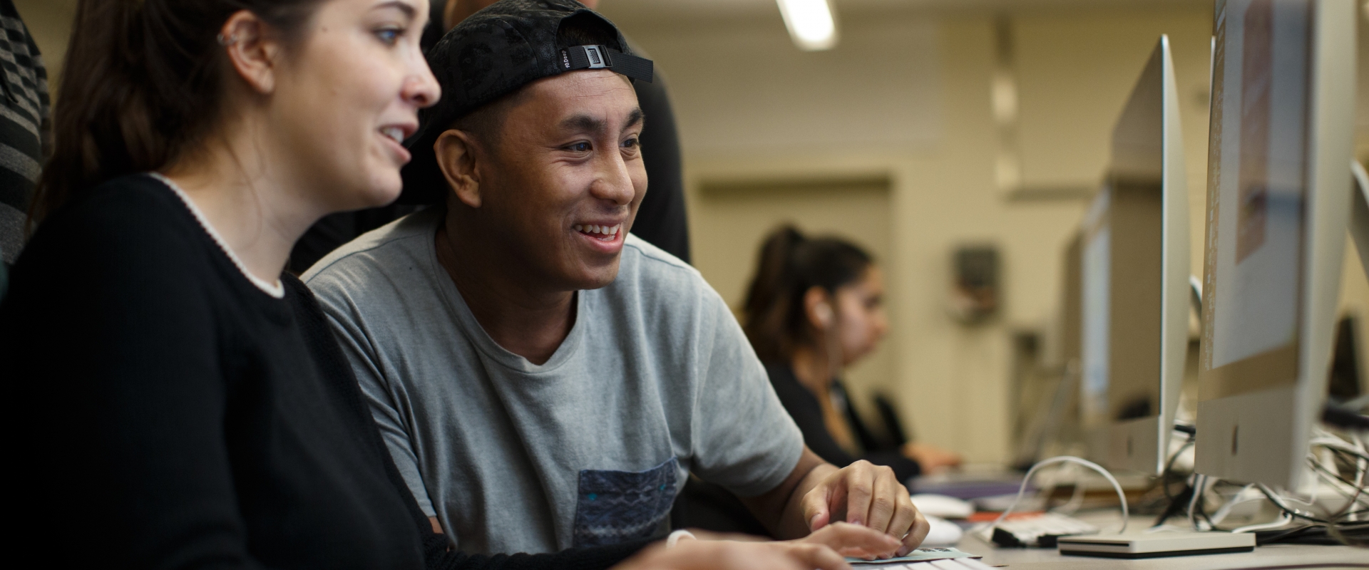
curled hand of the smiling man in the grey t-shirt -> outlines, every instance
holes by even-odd
[[[804,495],[802,504],[809,530],[845,519],[902,539],[898,556],[917,548],[931,529],[894,470],[868,461],[827,474]]]

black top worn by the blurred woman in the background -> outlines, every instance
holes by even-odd
[[[817,396],[805,388],[804,384],[798,383],[793,368],[787,364],[771,362],[765,365],[765,373],[769,375],[771,385],[775,387],[779,402],[784,405],[794,422],[798,424],[798,431],[804,432],[804,443],[817,457],[838,467],[852,465],[857,459],[865,459],[875,465],[887,465],[894,469],[898,480],[905,483],[909,477],[914,477],[923,472],[916,461],[904,457],[898,450],[867,450],[864,457],[853,457],[832,439],[832,435],[827,431],[827,422],[823,421],[823,407],[817,402]],[[867,431],[860,417],[852,413],[852,410],[845,410],[845,413],[853,429],[858,432]]]

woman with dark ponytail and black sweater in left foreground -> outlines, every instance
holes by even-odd
[[[0,305],[11,407],[27,413],[11,414],[12,544],[44,566],[301,569],[589,569],[643,547],[450,552],[318,302],[282,272],[323,215],[398,195],[401,141],[439,97],[427,14],[79,3],[37,230]],[[836,526],[828,539],[897,548]],[[623,569],[846,567],[812,543],[686,544]]]

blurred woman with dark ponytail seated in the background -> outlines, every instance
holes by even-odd
[[[834,465],[887,465],[906,481],[957,466],[961,458],[916,442],[868,448],[871,431],[846,401],[839,377],[887,332],[883,295],[879,267],[858,246],[810,239],[784,226],[761,246],[742,328],[808,447]]]

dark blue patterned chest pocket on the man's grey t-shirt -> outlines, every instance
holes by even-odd
[[[645,472],[580,470],[575,545],[650,537],[671,514],[678,467],[672,457]]]

